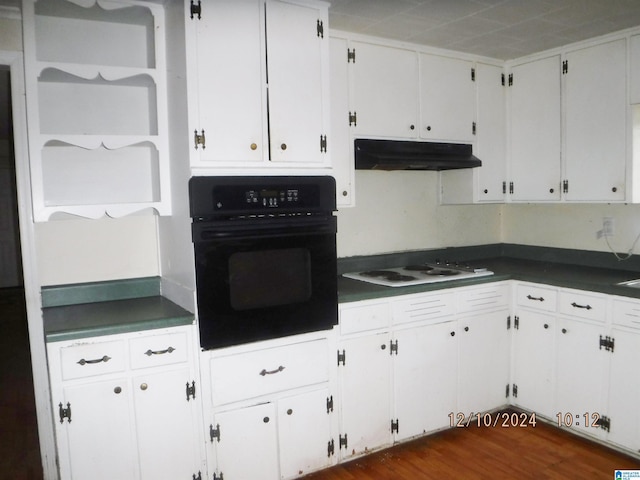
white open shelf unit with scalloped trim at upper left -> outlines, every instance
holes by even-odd
[[[34,219],[170,214],[163,8],[22,6]]]

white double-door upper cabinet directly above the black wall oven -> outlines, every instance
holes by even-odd
[[[322,2],[221,0],[188,16],[193,167],[330,166],[327,15]]]

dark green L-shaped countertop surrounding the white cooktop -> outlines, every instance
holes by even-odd
[[[465,259],[465,261],[466,260],[467,259]],[[410,287],[385,287],[340,276],[338,279],[338,301],[340,303],[354,302],[410,293],[436,291],[444,288],[480,285],[501,280],[522,280],[609,295],[640,298],[640,289],[616,285],[619,282],[640,278],[640,269],[635,271],[584,264],[576,265],[558,261],[537,261],[529,258],[509,256],[472,258],[470,261],[473,265],[487,267],[494,272],[494,275],[479,277],[477,279],[451,280],[424,285],[413,285]],[[386,266],[391,265],[387,264]],[[346,273],[344,270],[343,272]]]

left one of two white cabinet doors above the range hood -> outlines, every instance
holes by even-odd
[[[417,138],[418,55],[409,50],[351,42],[357,136]]]

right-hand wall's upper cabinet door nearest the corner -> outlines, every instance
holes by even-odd
[[[516,65],[511,78],[507,191],[514,201],[560,200],[560,57]]]

